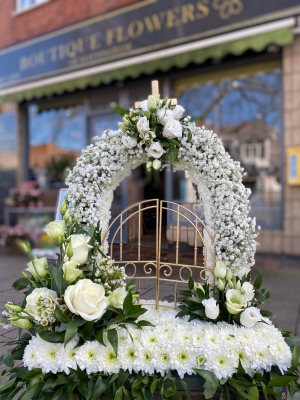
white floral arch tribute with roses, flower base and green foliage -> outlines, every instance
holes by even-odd
[[[261,277],[251,283],[255,221],[242,170],[213,132],[183,112],[153,96],[123,112],[120,130],[83,151],[68,178],[63,220],[45,228],[58,259],[33,258],[23,244],[31,261],[13,287],[25,289],[25,298],[2,313],[2,326],[16,325],[19,334],[1,357],[9,370],[0,399],[148,400],[157,390],[178,399],[179,389],[189,396],[186,375],[202,379],[207,399],[280,399],[287,385],[299,398],[299,338],[279,331],[261,309],[270,296]],[[142,162],[189,171],[214,238],[206,243],[210,267],[217,258],[214,274],[206,282],[190,277],[177,310],[138,305],[134,282],[102,242],[113,190]]]

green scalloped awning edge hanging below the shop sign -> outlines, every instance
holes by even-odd
[[[270,44],[285,46],[293,42],[293,28],[284,28],[267,32],[249,38],[235,40],[212,47],[191,51],[167,58],[137,64],[126,68],[107,71],[101,74],[89,75],[83,78],[66,80],[64,82],[27,89],[0,97],[0,103],[4,101],[23,101],[39,99],[44,96],[59,95],[64,92],[73,92],[76,89],[83,90],[88,86],[97,87],[99,84],[109,84],[112,81],[122,81],[125,78],[137,78],[141,74],[152,75],[156,71],[166,72],[172,67],[185,68],[190,63],[202,64],[209,58],[221,59],[227,54],[240,55],[246,50],[260,52]]]

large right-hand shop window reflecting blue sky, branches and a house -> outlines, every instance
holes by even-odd
[[[282,227],[281,101],[279,69],[191,87],[179,100],[187,115],[214,130],[241,163],[247,174],[244,184],[252,190],[251,215],[266,229]],[[175,179],[180,181],[174,185],[178,191],[182,176]]]

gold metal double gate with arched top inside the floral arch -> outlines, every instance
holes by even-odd
[[[126,208],[110,224],[104,235],[105,240],[111,232],[109,255],[125,268],[127,279],[136,281],[140,297],[153,300],[147,304],[176,308],[178,289],[186,288],[190,275],[202,283],[213,275],[215,256],[207,265],[212,235],[197,214],[195,206],[191,211],[151,199]]]

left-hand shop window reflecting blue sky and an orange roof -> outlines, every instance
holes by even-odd
[[[41,188],[60,187],[87,144],[83,107],[38,113],[31,106],[29,121],[29,179]]]

